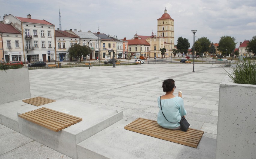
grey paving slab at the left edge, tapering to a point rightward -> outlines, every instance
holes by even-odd
[[[0,141],[0,143],[2,143],[0,144],[0,158],[2,158],[2,155],[6,152],[23,146],[33,140],[8,127],[5,127],[0,129]]]

